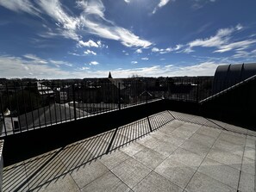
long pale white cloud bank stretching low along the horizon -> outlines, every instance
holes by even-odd
[[[254,53],[255,54],[255,53]],[[98,64],[97,61],[91,64]],[[142,68],[116,69],[111,70],[115,77],[130,77],[132,74],[138,74],[142,77],[174,77],[174,76],[207,76],[214,75],[218,65],[227,63],[203,62],[198,65],[178,66],[178,65],[153,65]],[[37,78],[84,78],[84,77],[107,77],[108,70],[91,71],[89,67],[80,67],[73,71],[65,71],[61,67],[51,65],[35,65],[31,60],[20,57],[0,56],[1,77],[37,77]],[[92,64],[93,65],[93,64]]]

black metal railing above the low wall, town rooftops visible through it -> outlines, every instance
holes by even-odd
[[[21,133],[161,99],[199,102],[213,77],[6,81],[0,84],[0,135]]]

